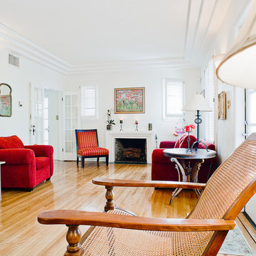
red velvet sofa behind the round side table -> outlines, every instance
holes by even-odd
[[[181,145],[179,144],[181,142]],[[191,135],[191,145],[193,142],[196,142],[196,137]],[[215,145],[210,144],[209,142],[203,141],[208,149],[215,150]],[[175,169],[175,163],[171,162],[170,159],[164,156],[164,149],[172,149],[174,147],[186,148],[188,146],[187,136],[183,137],[178,142],[161,142],[160,149],[154,149],[152,153],[152,165],[151,165],[151,180],[152,181],[178,181],[178,173]],[[199,144],[198,148],[205,149],[206,146],[203,144]],[[201,183],[206,183],[208,178],[215,171],[215,160],[214,159],[206,159],[202,164],[201,169],[198,173],[198,181]],[[185,161],[187,162],[187,161]],[[191,160],[191,164],[193,166],[195,160]]]

